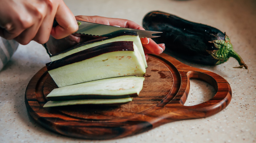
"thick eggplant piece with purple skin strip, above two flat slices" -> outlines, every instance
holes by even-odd
[[[92,47],[46,64],[58,87],[119,76],[143,76],[145,65],[133,41]]]

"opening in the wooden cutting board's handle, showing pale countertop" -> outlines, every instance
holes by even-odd
[[[184,106],[193,106],[209,101],[216,91],[213,86],[202,80],[190,79],[190,90]]]

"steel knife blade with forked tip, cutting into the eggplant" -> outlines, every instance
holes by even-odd
[[[75,33],[92,35],[92,36],[102,36],[102,37],[112,37],[113,35],[122,34],[122,33],[137,33],[139,38],[155,38],[160,37],[157,35],[162,32],[158,31],[148,31],[148,30],[139,30],[131,28],[123,28],[111,25],[96,24],[91,22],[85,22],[76,20],[79,25],[78,30]],[[53,27],[57,26],[57,22],[54,20]]]

